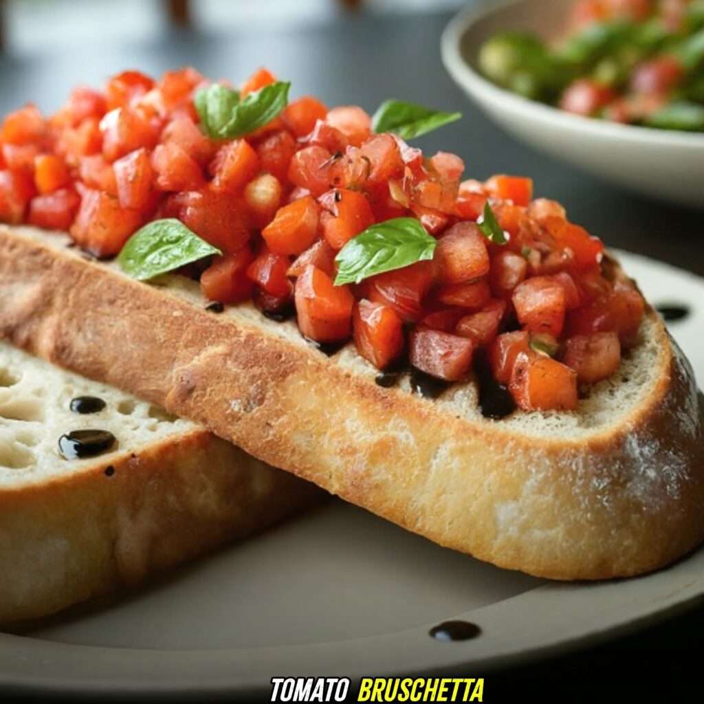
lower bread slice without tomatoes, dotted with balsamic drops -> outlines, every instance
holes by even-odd
[[[78,396],[99,413],[70,410]],[[115,445],[67,460],[59,437]],[[0,343],[0,622],[43,617],[241,538],[322,492],[187,420]]]

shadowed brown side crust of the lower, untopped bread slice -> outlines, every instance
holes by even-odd
[[[0,623],[137,586],[320,498],[313,484],[200,429],[0,490]]]

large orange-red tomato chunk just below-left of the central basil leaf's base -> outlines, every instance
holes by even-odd
[[[318,342],[345,339],[351,332],[354,296],[345,286],[335,286],[320,269],[308,266],[296,279],[298,327]]]

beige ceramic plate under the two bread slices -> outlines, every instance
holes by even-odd
[[[671,329],[704,378],[704,281],[621,256],[651,301],[691,308]],[[235,696],[268,693],[279,675],[484,676],[651,624],[702,595],[704,550],[639,579],[551,583],[331,501],[133,596],[0,634],[0,688]],[[481,634],[429,636],[454,619]]]

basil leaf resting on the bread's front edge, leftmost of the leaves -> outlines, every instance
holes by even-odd
[[[168,218],[154,220],[137,230],[122,247],[118,264],[133,279],[146,281],[211,254],[222,252],[180,220]]]

